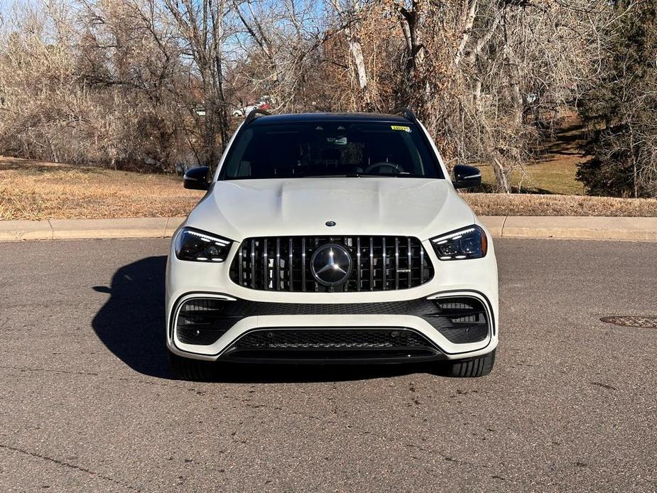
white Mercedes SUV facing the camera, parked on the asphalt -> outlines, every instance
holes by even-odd
[[[174,374],[215,362],[435,362],[488,374],[497,345],[490,235],[427,131],[393,114],[249,114],[173,235]]]

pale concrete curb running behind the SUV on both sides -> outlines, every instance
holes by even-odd
[[[657,242],[657,217],[483,216],[496,238]],[[0,242],[28,239],[170,237],[185,217],[0,221]]]

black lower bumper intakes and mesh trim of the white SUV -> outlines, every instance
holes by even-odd
[[[178,303],[170,323],[178,340],[207,346],[242,318],[263,315],[414,315],[456,344],[481,342],[492,324],[479,298],[455,296],[384,303],[269,303],[199,295]],[[173,335],[173,334],[172,334]],[[243,362],[397,362],[444,359],[410,327],[258,327],[241,334],[220,359]]]

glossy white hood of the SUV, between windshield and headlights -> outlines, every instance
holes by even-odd
[[[340,177],[217,181],[188,226],[236,241],[320,234],[424,240],[473,222],[448,180]]]

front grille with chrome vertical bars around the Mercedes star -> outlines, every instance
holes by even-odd
[[[353,262],[349,279],[332,288],[317,283],[310,271],[313,252],[327,243],[342,244]],[[412,237],[258,237],[241,243],[230,277],[261,291],[387,291],[430,281],[433,265]]]

